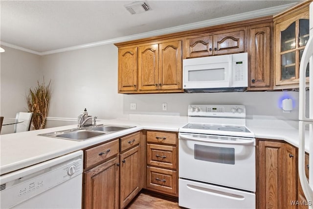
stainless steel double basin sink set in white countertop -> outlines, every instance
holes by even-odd
[[[105,134],[111,134],[114,132],[122,131],[129,128],[134,128],[135,126],[116,126],[116,125],[96,125],[89,126],[86,128],[76,128],[68,129],[57,132],[50,132],[45,134],[39,134],[38,136],[52,137],[58,139],[68,139],[75,141],[84,141],[94,137],[99,137]]]

